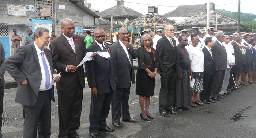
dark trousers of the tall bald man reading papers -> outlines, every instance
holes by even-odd
[[[76,90],[58,93],[59,138],[75,137],[80,127],[83,101],[83,88],[79,84]]]

